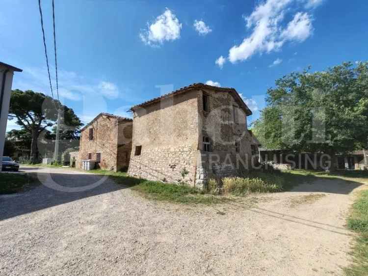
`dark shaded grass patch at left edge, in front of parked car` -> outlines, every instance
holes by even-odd
[[[18,193],[35,183],[36,179],[28,174],[0,173],[0,194]]]

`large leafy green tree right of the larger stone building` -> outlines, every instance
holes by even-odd
[[[284,76],[267,90],[267,107],[253,124],[254,133],[270,149],[334,157],[367,148],[368,62],[309,70]]]

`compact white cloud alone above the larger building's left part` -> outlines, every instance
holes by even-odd
[[[164,41],[176,40],[180,38],[182,24],[171,10],[166,8],[163,14],[156,18],[151,25],[147,23],[148,29],[142,30],[139,34],[141,40],[150,46],[158,46]]]

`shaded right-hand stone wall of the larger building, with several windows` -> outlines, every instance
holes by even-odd
[[[202,94],[209,97],[209,111],[203,110]],[[199,149],[201,151],[201,168],[205,175],[217,178],[236,176],[239,170],[249,169],[252,158],[252,136],[247,130],[247,117],[239,108],[230,93],[211,90],[200,91],[198,94],[199,114]],[[202,137],[211,140],[212,151],[205,152]],[[236,142],[238,151],[236,150]],[[198,162],[199,164],[199,162]],[[198,165],[199,166],[199,165]],[[197,177],[200,185],[206,183]]]

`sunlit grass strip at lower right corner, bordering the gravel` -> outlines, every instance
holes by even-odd
[[[359,234],[352,251],[353,264],[345,268],[346,276],[366,276],[368,272],[368,190],[359,194],[347,220],[351,230]]]

